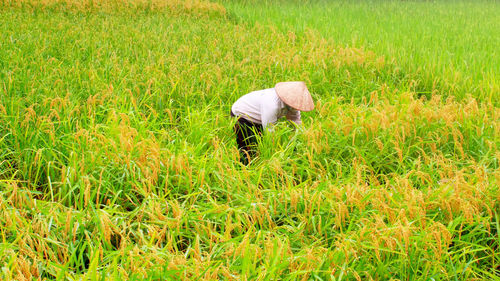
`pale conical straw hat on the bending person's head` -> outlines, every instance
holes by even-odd
[[[278,97],[288,106],[300,111],[311,111],[314,102],[306,83],[302,81],[280,82],[274,86]]]

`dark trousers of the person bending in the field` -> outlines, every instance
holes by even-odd
[[[257,154],[257,134],[262,134],[262,125],[235,116],[232,111],[231,116],[238,118],[238,121],[234,124],[234,132],[236,133],[236,142],[240,151],[240,162],[248,165]]]

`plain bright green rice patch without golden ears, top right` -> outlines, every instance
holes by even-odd
[[[497,1],[224,1],[238,21],[318,30],[394,61],[415,91],[500,100]]]

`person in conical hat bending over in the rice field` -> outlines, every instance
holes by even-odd
[[[253,91],[240,97],[231,107],[240,162],[248,165],[256,155],[257,135],[286,116],[297,125],[302,123],[301,111],[314,109],[314,102],[302,81],[280,82],[274,88]]]

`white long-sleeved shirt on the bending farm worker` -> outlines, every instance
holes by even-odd
[[[231,110],[234,115],[262,124],[264,128],[283,116],[296,124],[301,124],[300,111],[283,103],[274,88],[254,91],[240,97]]]

